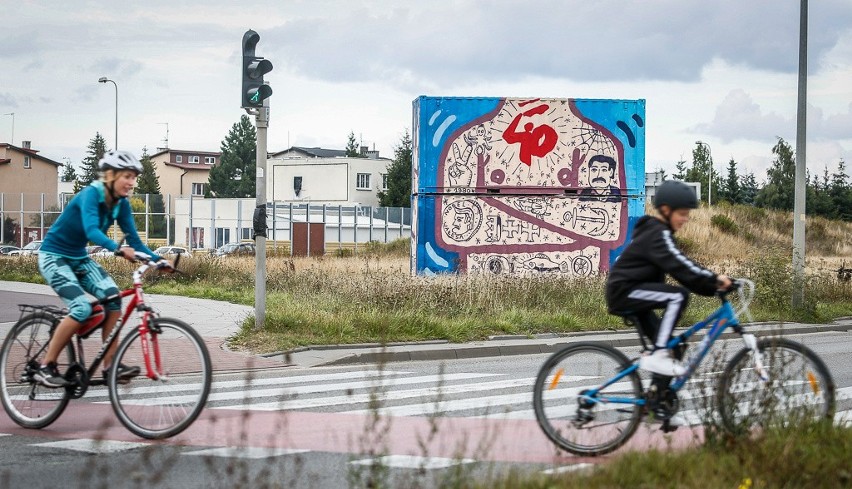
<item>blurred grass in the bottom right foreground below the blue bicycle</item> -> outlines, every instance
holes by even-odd
[[[852,429],[829,423],[796,426],[754,439],[717,439],[681,451],[627,452],[587,472],[563,476],[512,474],[498,489],[726,487],[799,489],[852,487]]]

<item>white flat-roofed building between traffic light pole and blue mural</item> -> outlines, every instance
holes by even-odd
[[[292,147],[267,161],[266,198],[278,202],[379,205],[392,160],[361,147],[364,157],[341,150]]]

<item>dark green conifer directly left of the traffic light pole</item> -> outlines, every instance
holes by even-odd
[[[243,114],[222,141],[219,165],[210,169],[206,197],[246,198],[256,193],[257,133]]]

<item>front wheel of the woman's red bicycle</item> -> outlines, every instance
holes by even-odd
[[[212,368],[207,347],[188,324],[157,318],[149,327],[151,375],[137,328],[118,346],[107,384],[121,423],[137,436],[160,439],[182,432],[201,414],[210,393]],[[129,381],[117,379],[120,363],[139,365],[142,372]]]

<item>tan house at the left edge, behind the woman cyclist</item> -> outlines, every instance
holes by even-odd
[[[24,233],[0,236],[2,240],[23,245],[41,239],[44,233],[43,211],[57,207],[58,161],[38,154],[30,141],[21,146],[0,143],[0,221],[11,218],[15,226],[24,226]],[[2,228],[3,226],[0,226]]]

